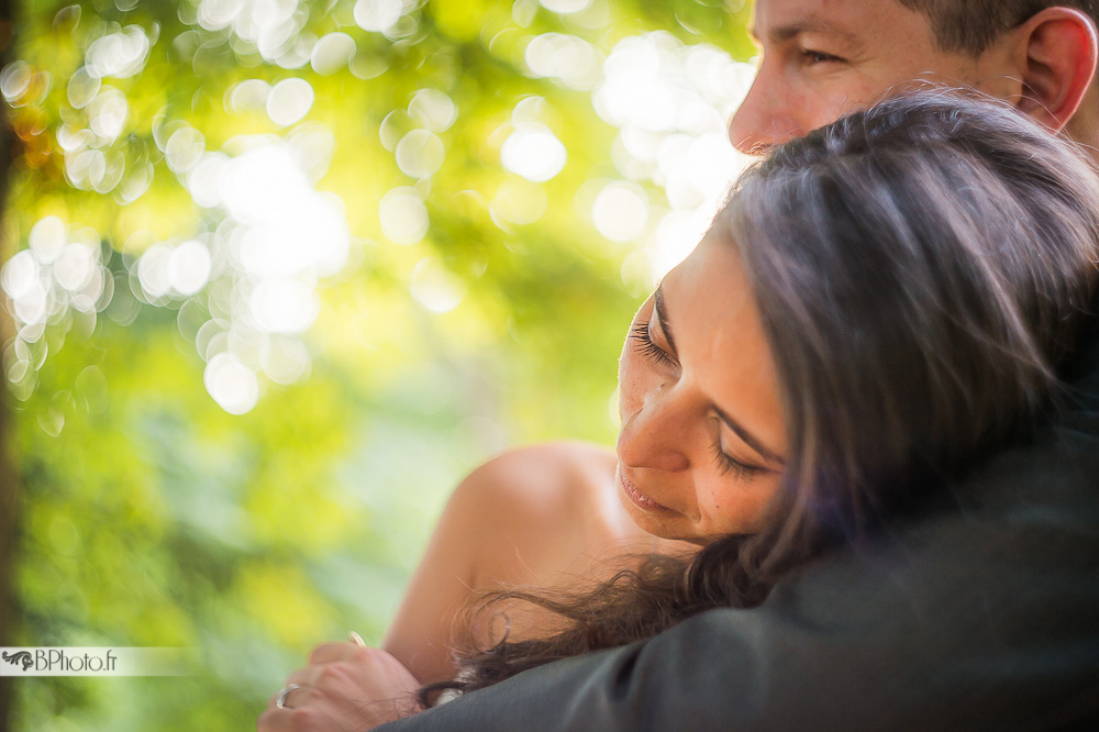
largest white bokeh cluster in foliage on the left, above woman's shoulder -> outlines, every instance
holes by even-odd
[[[229,104],[269,111],[279,85],[268,92],[252,81],[237,85]],[[210,313],[191,329],[207,361],[207,391],[226,412],[244,414],[258,403],[260,377],[287,386],[308,376],[302,339],[320,313],[318,291],[347,263],[343,202],[315,188],[334,140],[318,123],[300,124],[285,138],[235,137],[220,151],[207,151],[201,134],[179,122],[163,123],[157,136],[196,206],[218,224],[148,246],[133,273],[147,302],[195,301]],[[43,242],[56,239],[55,223],[42,226]]]

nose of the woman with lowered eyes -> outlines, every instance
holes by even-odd
[[[658,387],[623,421],[618,456],[628,467],[678,473],[690,466],[686,439],[687,424],[676,395]]]

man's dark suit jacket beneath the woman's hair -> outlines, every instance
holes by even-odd
[[[384,729],[1099,730],[1099,343],[1075,368],[1069,409],[1035,442],[759,608]]]

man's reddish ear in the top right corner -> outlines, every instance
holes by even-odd
[[[1072,8],[1047,8],[1013,32],[1022,58],[1023,96],[1018,102],[1054,132],[1076,114],[1096,74],[1095,23]]]

